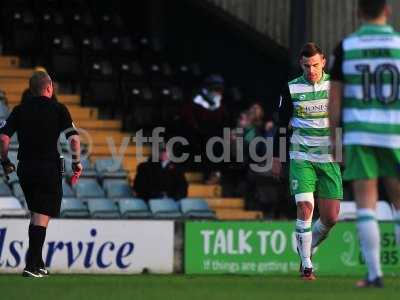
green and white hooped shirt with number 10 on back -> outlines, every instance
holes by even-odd
[[[400,148],[400,34],[362,26],[343,40],[332,70],[344,82],[344,144]]]

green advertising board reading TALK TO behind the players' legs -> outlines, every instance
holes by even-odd
[[[381,223],[386,275],[400,275],[393,223]],[[299,270],[293,222],[187,222],[186,274],[289,274]],[[319,275],[364,275],[355,223],[335,226],[313,256]]]

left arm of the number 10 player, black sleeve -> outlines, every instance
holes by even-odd
[[[333,63],[331,68],[331,87],[329,91],[329,126],[331,128],[331,143],[332,143],[332,153],[335,159],[340,159],[337,150],[339,145],[341,146],[341,141],[337,141],[340,138],[337,133],[340,130],[341,120],[342,120],[342,99],[343,99],[343,47],[342,43],[336,48],[333,56]]]

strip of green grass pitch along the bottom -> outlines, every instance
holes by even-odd
[[[4,300],[347,300],[400,299],[400,278],[385,278],[384,289],[354,287],[357,278],[292,276],[57,275],[45,279],[0,275]]]

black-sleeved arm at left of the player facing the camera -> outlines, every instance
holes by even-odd
[[[272,176],[279,178],[282,173],[281,160],[286,158],[286,139],[288,136],[288,127],[290,119],[293,116],[293,102],[290,97],[289,86],[285,84],[281,89],[280,101],[277,112],[275,113],[277,120],[277,130],[274,136],[274,157],[272,161]],[[285,149],[280,145],[281,138],[285,141]]]

